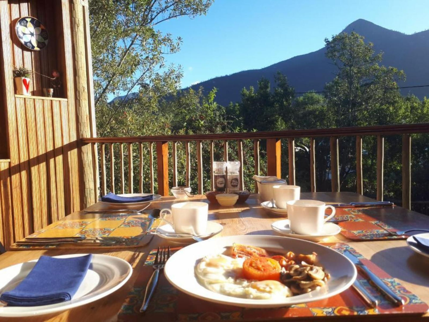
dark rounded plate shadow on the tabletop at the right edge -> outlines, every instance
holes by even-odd
[[[413,252],[407,246],[381,250],[372,255],[370,260],[394,278],[429,287],[429,258]]]

